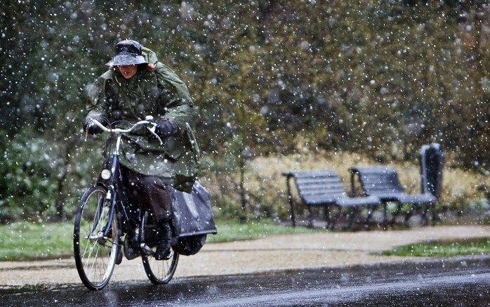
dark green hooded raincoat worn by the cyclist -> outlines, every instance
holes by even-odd
[[[108,70],[95,81],[89,96],[87,117],[105,117],[113,127],[128,128],[152,115],[155,122],[170,119],[178,132],[162,138],[160,145],[145,129],[123,136],[120,162],[129,169],[147,176],[173,178],[175,188],[190,192],[195,180],[199,147],[194,138],[194,107],[187,86],[175,72],[158,62],[150,49],[143,48],[154,72],[139,70],[131,79],[124,79],[117,70]],[[107,123],[102,123],[107,124]],[[112,155],[115,138],[107,140],[105,155]]]

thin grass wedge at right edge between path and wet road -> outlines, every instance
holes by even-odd
[[[396,247],[383,252],[386,256],[453,257],[490,254],[490,239],[454,242],[428,242]]]

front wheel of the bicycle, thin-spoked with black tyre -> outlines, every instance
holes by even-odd
[[[107,190],[94,186],[81,197],[73,233],[75,263],[81,282],[88,289],[100,290],[109,282],[117,260],[119,227],[117,218],[110,223]],[[105,237],[103,233],[110,227]]]

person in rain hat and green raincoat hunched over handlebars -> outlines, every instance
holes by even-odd
[[[199,148],[194,138],[195,109],[187,86],[175,72],[160,63],[156,54],[137,41],[119,41],[116,55],[106,64],[109,70],[88,86],[89,110],[84,131],[102,133],[91,122],[128,128],[154,117],[159,143],[147,129],[121,139],[121,174],[131,204],[150,209],[163,235],[155,259],[167,259],[171,252],[171,195],[169,185],[190,192],[195,181]],[[107,140],[105,155],[114,147]]]

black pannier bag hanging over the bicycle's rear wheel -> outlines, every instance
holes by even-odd
[[[175,188],[170,190],[173,235],[176,237],[172,247],[185,256],[197,254],[206,242],[206,235],[217,233],[209,193],[198,181],[190,193]]]

